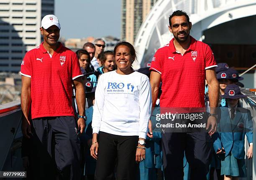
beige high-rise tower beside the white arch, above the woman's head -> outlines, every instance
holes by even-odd
[[[134,42],[142,22],[157,0],[122,0],[121,40]]]

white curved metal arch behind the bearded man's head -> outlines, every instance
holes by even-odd
[[[138,52],[135,69],[146,66],[155,51],[173,37],[168,18],[174,10],[186,11],[192,22],[190,34],[202,40],[202,32],[216,25],[256,15],[256,0],[158,0],[141,25],[134,46]]]

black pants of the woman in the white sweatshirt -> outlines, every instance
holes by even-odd
[[[100,132],[95,180],[113,180],[117,162],[117,180],[135,180],[138,172],[136,146],[138,136],[119,136]]]

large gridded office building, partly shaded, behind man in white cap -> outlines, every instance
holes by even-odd
[[[0,72],[18,72],[25,53],[41,41],[41,19],[54,0],[0,0]]]

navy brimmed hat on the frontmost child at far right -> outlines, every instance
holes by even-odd
[[[238,99],[246,96],[248,95],[241,94],[240,88],[236,84],[229,84],[224,91],[224,95],[221,95],[221,97],[229,99]]]

